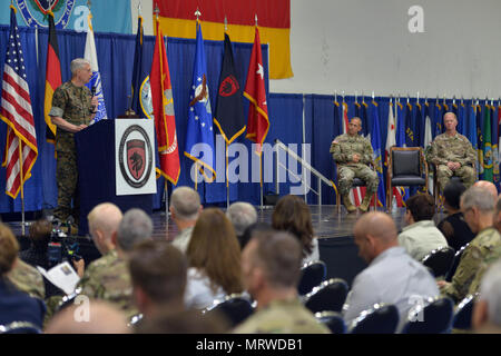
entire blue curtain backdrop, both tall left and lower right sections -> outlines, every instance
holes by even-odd
[[[9,28],[7,26],[0,26],[0,60],[3,68],[7,37]],[[53,146],[45,141],[46,125],[43,121],[43,90],[45,90],[45,75],[46,75],[46,52],[47,52],[47,30],[38,31],[38,51],[35,30],[26,27],[20,27],[21,42],[24,49],[24,60],[27,63],[27,75],[30,86],[31,102],[33,107],[35,123],[37,129],[37,140],[39,156],[36,165],[32,169],[32,177],[24,185],[26,197],[26,210],[37,211],[43,208],[53,208],[57,204],[57,189],[56,189],[56,160],[53,158]],[[71,59],[84,56],[85,48],[85,33],[76,32],[71,30],[59,30],[59,56],[61,60],[62,80],[70,79],[69,63]],[[151,62],[154,37],[145,37],[145,61]],[[188,95],[191,80],[193,61],[195,56],[195,40],[174,39],[166,40],[167,56],[170,68],[174,106],[176,112],[176,128],[179,144],[179,151],[181,152],[185,147],[186,137],[186,122],[188,113]],[[252,51],[252,43],[233,43],[235,62],[237,63],[237,71],[239,76],[240,86],[245,86],[245,78],[247,75],[248,61]],[[114,118],[125,112],[128,106],[128,96],[130,95],[130,81],[132,75],[132,60],[135,49],[135,36],[132,34],[116,34],[116,33],[96,33],[96,47],[99,60],[99,67],[102,78],[102,87],[105,91],[105,100],[107,109],[109,110],[109,117]],[[217,85],[219,80],[219,70],[223,60],[223,42],[218,41],[205,41],[205,50],[207,56],[208,66],[208,86],[212,100],[212,108],[216,107],[217,98]],[[265,79],[267,85],[267,47],[263,46],[263,60],[265,71]],[[268,88],[267,88],[268,89]],[[348,117],[355,115],[354,97],[345,97],[348,105]],[[357,98],[357,102],[362,102],[361,97]],[[365,97],[365,102],[370,102],[372,98]],[[341,103],[342,98],[337,96],[337,101]],[[376,97],[375,101],[379,103],[379,117],[380,117],[380,135],[382,146],[386,144],[386,130],[387,130],[387,115],[389,115],[389,98]],[[402,98],[403,106],[406,103],[406,98]],[[410,98],[411,105],[415,106],[416,99]],[[439,101],[443,106],[443,99]],[[341,107],[334,106],[334,96],[322,95],[295,95],[295,93],[269,93],[267,98],[268,115],[271,127],[266,138],[266,142],[274,145],[275,139],[279,139],[284,144],[295,144],[296,149],[301,152],[301,144],[303,144],[303,120],[304,120],[304,136],[305,142],[311,144],[311,161],[312,166],[323,174],[328,179],[335,178],[334,166],[332,157],[328,154],[331,141],[335,136],[342,134],[342,126],[340,118],[342,117]],[[423,105],[424,100],[421,99],[420,103]],[[432,122],[440,122],[442,112],[434,110],[435,100],[429,100],[430,112],[432,115]],[[452,107],[452,100],[446,99],[445,103]],[[483,105],[483,100],[480,102]],[[466,108],[471,105],[471,100],[464,100]],[[247,115],[248,101],[244,99],[244,110]],[[338,117],[335,120],[334,110],[338,110]],[[415,111],[415,110],[413,110]],[[472,110],[469,110],[472,111]],[[303,113],[304,112],[304,113]],[[423,112],[424,113],[424,112]],[[435,117],[436,116],[436,117]],[[468,112],[466,122],[474,120],[470,118],[471,113]],[[494,116],[497,118],[497,113]],[[404,120],[404,116],[397,118],[397,120]],[[425,117],[421,117],[420,134],[424,129]],[[369,127],[372,122],[366,123]],[[464,126],[463,126],[464,130]],[[7,126],[0,123],[0,154],[3,157],[4,141],[6,141]],[[433,130],[434,131],[434,130]],[[420,135],[420,136],[421,136]],[[436,132],[433,132],[435,136]],[[464,132],[470,138],[471,132]],[[420,138],[421,139],[421,138]],[[224,170],[224,157],[225,148],[220,140],[216,139],[216,165],[217,174],[219,176],[225,175]],[[258,170],[252,169],[252,164],[258,162],[257,156],[253,152],[250,141],[242,135],[237,140],[238,145],[230,147],[230,165],[232,170],[239,174],[240,181],[229,184],[229,197],[230,201],[244,200],[252,204],[259,204],[259,182]],[[264,159],[265,161],[265,159]],[[288,159],[282,158],[281,161],[292,168],[297,175],[301,176],[301,168],[295,168],[295,162]],[[178,185],[191,186],[194,182],[190,179],[189,171],[191,161],[185,156],[180,156],[181,172]],[[242,165],[237,167],[238,162]],[[265,164],[265,162],[264,162]],[[272,168],[274,165],[264,165],[264,177],[276,172]],[[281,176],[284,177],[284,171],[281,170]],[[385,175],[385,171],[384,171]],[[286,195],[291,191],[292,187],[298,187],[298,182],[294,182],[294,179],[287,176],[287,181],[282,182],[279,186],[279,194]],[[223,178],[220,177],[220,178]],[[385,177],[385,176],[384,176]],[[220,179],[219,178],[219,179]],[[253,180],[254,178],[254,180]],[[255,181],[255,182],[250,182]],[[383,182],[381,182],[383,184]],[[158,194],[155,197],[154,208],[158,209],[163,201],[165,181],[163,178],[158,179]],[[317,189],[317,180],[312,176],[311,185],[313,189]],[[0,212],[13,212],[21,210],[21,199],[18,197],[12,200],[4,194],[6,187],[6,170],[0,168]],[[215,182],[212,185],[198,184],[198,191],[202,197],[202,201],[205,205],[222,205],[226,202],[226,184]],[[173,187],[168,185],[169,192]],[[275,191],[275,185],[273,182],[264,184],[263,190],[265,194]],[[323,185],[322,187],[322,201],[323,204],[335,204],[334,190],[331,187]],[[310,192],[307,195],[308,204],[316,204],[317,197]]]

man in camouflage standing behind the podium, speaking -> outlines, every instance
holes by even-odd
[[[73,134],[85,129],[96,116],[97,97],[85,86],[92,77],[90,63],[77,58],[71,61],[71,80],[56,89],[49,116],[57,126],[56,134],[56,181],[58,207],[55,218],[63,221],[70,215],[78,225],[79,199],[77,191],[78,169]],[[73,210],[71,210],[71,199]]]

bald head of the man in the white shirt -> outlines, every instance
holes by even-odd
[[[364,214],[353,228],[358,255],[367,264],[390,247],[397,246],[393,219],[384,212]]]

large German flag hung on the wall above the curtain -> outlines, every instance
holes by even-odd
[[[255,16],[263,43],[269,43],[269,78],[293,77],[291,67],[291,0],[169,0],[158,6],[160,29],[165,36],[196,37],[195,11],[202,12],[204,39],[223,41],[225,17],[228,36],[236,42],[254,42]],[[155,23],[154,23],[155,24]],[[155,26],[154,26],[155,27]]]

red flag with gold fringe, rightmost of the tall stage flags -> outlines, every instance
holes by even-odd
[[[269,120],[266,105],[266,89],[264,82],[263,56],[261,53],[259,30],[256,27],[253,52],[248,65],[247,82],[244,96],[250,101],[247,118],[247,138],[258,144],[257,154],[261,155],[262,144],[268,135]]]

